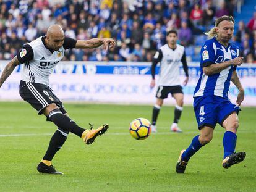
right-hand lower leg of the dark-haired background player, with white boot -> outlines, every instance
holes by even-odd
[[[173,98],[176,100],[176,105],[174,109],[174,120],[173,124],[171,125],[171,131],[181,133],[181,128],[178,127],[177,123],[179,122],[179,119],[181,118],[181,113],[183,110],[183,99],[184,94],[182,93],[174,93]]]

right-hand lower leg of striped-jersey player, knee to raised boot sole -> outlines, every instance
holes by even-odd
[[[233,112],[224,120],[223,127],[226,132],[223,136],[224,157],[222,165],[224,168],[228,169],[231,165],[244,161],[246,156],[245,152],[235,153],[237,139],[236,132],[239,127],[239,120],[236,112]]]

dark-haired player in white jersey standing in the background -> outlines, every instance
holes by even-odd
[[[156,91],[156,104],[153,107],[152,114],[152,132],[157,132],[156,130],[156,120],[160,112],[161,106],[163,105],[164,99],[168,98],[168,94],[171,93],[173,98],[176,100],[176,106],[174,109],[174,120],[171,125],[171,131],[181,133],[182,130],[178,127],[177,123],[181,118],[181,113],[183,110],[183,98],[184,94],[182,91],[181,82],[179,79],[179,64],[182,62],[183,69],[186,75],[183,85],[187,85],[189,81],[189,73],[186,61],[186,53],[184,46],[177,44],[177,31],[171,30],[166,34],[167,43],[161,46],[156,52],[152,67],[151,74],[152,80],[150,87],[155,86],[155,67],[160,62],[160,72],[158,79],[158,90]]]

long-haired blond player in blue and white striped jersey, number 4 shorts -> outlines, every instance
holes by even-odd
[[[239,48],[229,43],[233,33],[234,19],[226,15],[216,19],[215,27],[206,33],[210,39],[201,49],[201,74],[194,92],[194,111],[200,134],[193,138],[186,150],[181,151],[177,173],[184,173],[190,157],[211,141],[216,123],[226,130],[223,136],[223,167],[228,169],[242,162],[246,156],[245,152],[235,153],[239,126],[237,114],[244,100],[244,88],[236,73],[243,57],[239,57]],[[230,81],[239,90],[237,105],[228,99]]]

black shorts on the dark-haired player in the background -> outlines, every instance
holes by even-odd
[[[182,87],[180,85],[177,86],[158,86],[158,90],[156,91],[156,98],[165,99],[168,98],[168,94],[171,93],[171,96],[175,93],[182,93]]]

